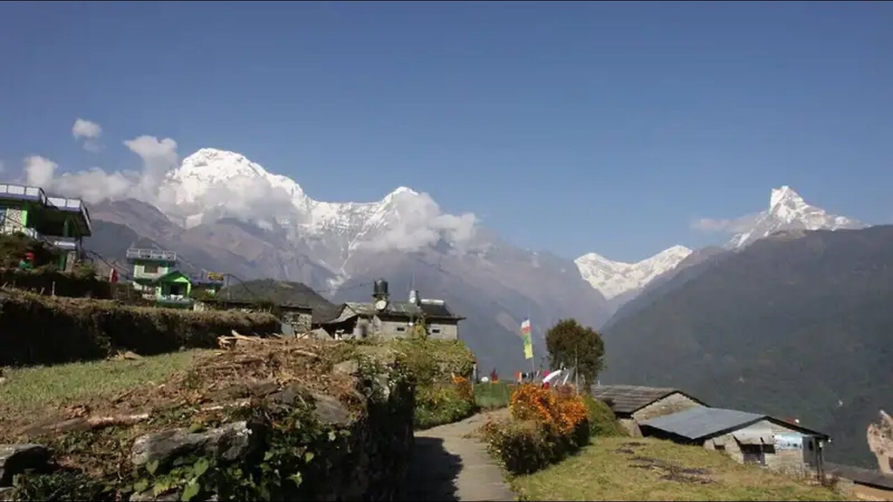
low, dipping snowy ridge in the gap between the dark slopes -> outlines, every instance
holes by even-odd
[[[640,289],[663,272],[679,264],[691,249],[673,246],[635,264],[614,262],[604,256],[588,253],[577,258],[574,263],[580,275],[602,295],[611,299],[629,291]]]

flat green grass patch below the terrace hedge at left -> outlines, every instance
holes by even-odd
[[[199,351],[174,352],[138,359],[5,368],[0,383],[0,413],[23,414],[63,406],[87,397],[160,382],[185,369]]]

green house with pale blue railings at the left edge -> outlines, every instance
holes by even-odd
[[[87,206],[78,198],[47,197],[42,188],[0,184],[0,233],[21,233],[63,251],[59,270],[83,258],[92,232]]]

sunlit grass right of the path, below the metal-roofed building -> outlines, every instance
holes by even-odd
[[[593,443],[559,464],[514,478],[513,488],[522,500],[844,499],[705,448],[641,438],[593,438]]]

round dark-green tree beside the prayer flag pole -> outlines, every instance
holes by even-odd
[[[546,333],[546,348],[552,366],[573,367],[576,363],[580,384],[588,389],[605,367],[605,343],[596,330],[576,319],[563,319]]]

